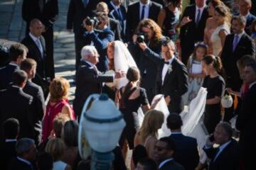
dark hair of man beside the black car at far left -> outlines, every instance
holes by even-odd
[[[21,43],[15,43],[11,45],[9,50],[9,57],[11,61],[16,61],[18,57],[23,56],[24,51],[28,51],[27,47]]]

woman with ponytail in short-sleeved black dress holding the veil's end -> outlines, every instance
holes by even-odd
[[[203,71],[206,77],[203,80],[203,87],[207,89],[206,110],[203,123],[208,133],[213,133],[215,126],[220,122],[221,106],[220,100],[225,89],[225,81],[222,77],[223,66],[220,57],[206,55],[202,60]]]

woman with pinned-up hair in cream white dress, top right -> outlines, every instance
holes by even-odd
[[[218,27],[210,37],[210,51],[212,52],[212,55],[220,56],[225,38],[230,34],[231,14],[228,7],[216,6],[213,18],[215,19],[215,23],[217,23]]]

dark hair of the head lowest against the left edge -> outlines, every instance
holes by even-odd
[[[16,139],[19,132],[19,123],[16,118],[9,118],[3,123],[4,137],[6,139]]]

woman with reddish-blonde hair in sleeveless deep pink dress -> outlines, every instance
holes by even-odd
[[[68,103],[68,89],[70,84],[63,77],[56,77],[50,82],[50,100],[46,106],[46,115],[43,118],[43,137],[45,141],[53,130],[53,119],[58,114],[65,114],[70,120],[75,120],[73,108]]]

